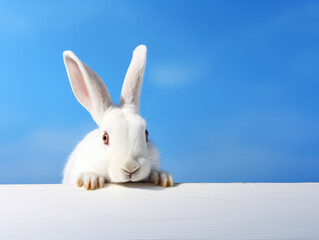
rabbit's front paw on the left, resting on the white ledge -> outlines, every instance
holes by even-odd
[[[86,190],[94,190],[104,187],[105,177],[93,172],[85,172],[79,175],[76,183],[79,187],[84,186]]]

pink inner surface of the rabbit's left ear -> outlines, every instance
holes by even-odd
[[[66,60],[68,62],[67,66],[71,86],[76,98],[86,109],[91,109],[89,90],[85,84],[79,65],[71,58],[67,58]]]

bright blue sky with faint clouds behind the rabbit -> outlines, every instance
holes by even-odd
[[[74,51],[114,102],[148,47],[141,114],[177,182],[319,181],[317,1],[1,1],[0,183],[58,183],[95,123]]]

